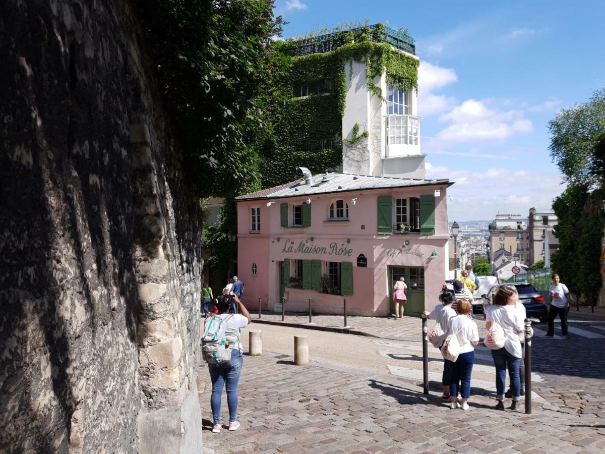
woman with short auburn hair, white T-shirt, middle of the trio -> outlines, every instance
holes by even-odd
[[[451,407],[468,410],[466,401],[471,396],[471,373],[475,362],[475,347],[479,343],[479,330],[477,324],[468,318],[473,311],[473,305],[468,300],[460,300],[457,304],[459,315],[451,319],[451,332],[456,334],[460,344],[460,354],[451,370]],[[460,389],[458,384],[460,383]],[[460,391],[462,404],[458,403],[457,395]]]

